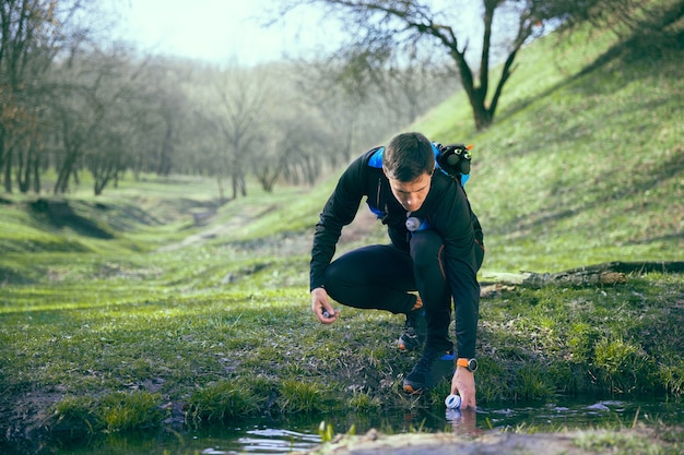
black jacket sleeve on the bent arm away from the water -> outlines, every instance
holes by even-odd
[[[364,196],[366,155],[354,160],[340,177],[338,184],[323,206],[314,232],[309,290],[326,285],[326,268],[335,252],[342,227],[354,220]]]

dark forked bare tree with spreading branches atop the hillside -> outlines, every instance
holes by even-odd
[[[632,2],[633,0],[625,0]],[[636,1],[636,0],[635,0]],[[460,83],[468,95],[475,128],[492,124],[504,86],[514,69],[518,51],[530,38],[544,32],[550,21],[563,22],[621,0],[482,0],[476,4],[482,23],[472,27],[460,20],[461,13],[475,3],[449,2],[449,8],[439,10],[427,0],[309,0],[305,3],[321,4],[344,21],[353,36],[347,48],[369,52],[375,59],[388,61],[397,52],[408,56],[416,43],[428,41],[446,51],[445,57],[456,64]],[[287,12],[302,2],[290,2]],[[495,14],[499,21],[495,22]],[[498,25],[497,25],[498,24]],[[470,43],[475,31],[480,32],[480,44],[475,51],[480,57],[471,63]],[[490,77],[493,63],[495,31],[505,38],[498,81]],[[350,59],[350,63],[356,60]]]

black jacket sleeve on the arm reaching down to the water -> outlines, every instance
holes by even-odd
[[[463,190],[457,185],[456,191],[456,196],[441,199],[441,207],[435,212],[433,223],[445,242],[447,280],[456,312],[458,356],[472,358],[475,356],[480,312],[477,270],[483,254],[481,244],[475,240],[476,236],[482,237],[482,231],[475,232],[473,228],[470,204]]]

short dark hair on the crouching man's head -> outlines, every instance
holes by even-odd
[[[389,142],[382,153],[382,168],[390,179],[411,182],[435,170],[433,145],[421,133],[402,133]]]

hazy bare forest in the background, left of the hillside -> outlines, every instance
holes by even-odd
[[[87,7],[86,7],[87,4]],[[438,103],[445,71],[404,67],[363,93],[329,61],[244,68],[156,56],[104,36],[97,2],[3,1],[0,171],[5,192],[93,192],[130,172],[210,176],[221,199],[311,184]],[[420,96],[418,96],[420,94]]]

